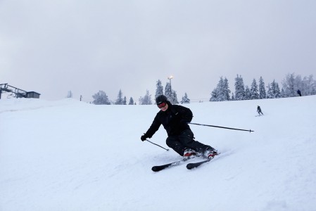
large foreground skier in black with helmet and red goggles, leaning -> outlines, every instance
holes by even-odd
[[[164,95],[157,96],[156,104],[160,111],[148,131],[141,136],[141,141],[151,138],[163,124],[168,134],[167,145],[184,159],[192,158],[198,153],[209,159],[217,155],[215,148],[194,140],[194,134],[188,124],[193,117],[189,108],[172,105]]]

